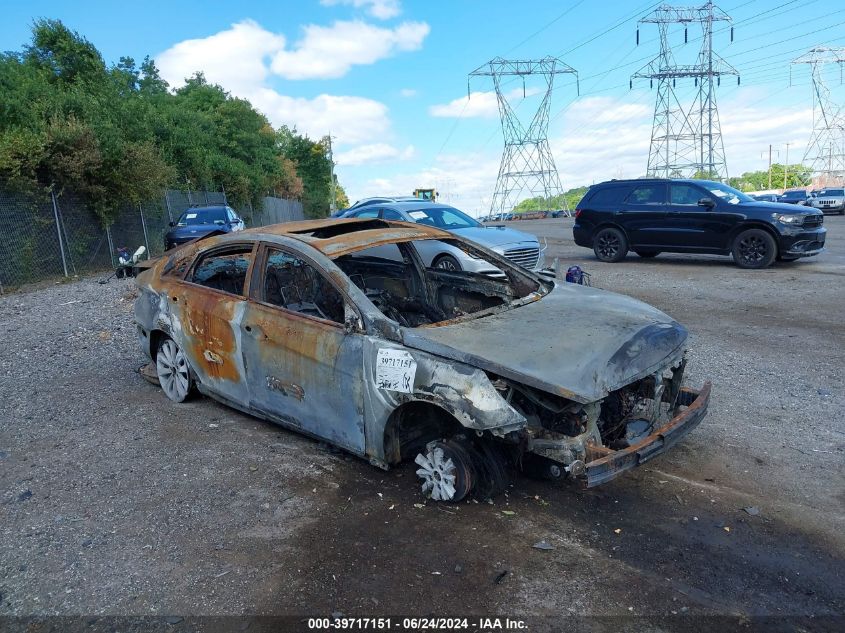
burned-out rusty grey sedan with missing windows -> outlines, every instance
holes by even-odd
[[[425,240],[504,276],[426,267]],[[687,332],[666,314],[419,224],[249,229],[137,281],[138,335],[171,400],[196,389],[381,468],[415,462],[435,500],[492,496],[515,468],[601,484],[709,401],[709,383],[682,386]]]

